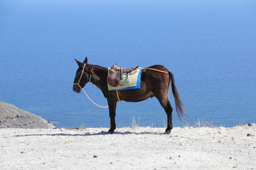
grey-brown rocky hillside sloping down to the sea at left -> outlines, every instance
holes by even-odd
[[[56,126],[42,117],[0,101],[0,128],[52,128]]]

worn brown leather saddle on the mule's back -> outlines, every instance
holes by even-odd
[[[113,87],[117,87],[118,83],[123,79],[123,74],[134,74],[136,73],[136,71],[134,70],[138,69],[138,67],[140,66],[132,67],[131,69],[126,69],[124,67],[116,66],[115,62],[115,64],[113,64],[113,66],[110,68],[110,73],[108,74],[108,84]]]

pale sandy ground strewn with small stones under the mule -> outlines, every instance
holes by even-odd
[[[106,131],[0,129],[0,169],[256,169],[255,125]]]

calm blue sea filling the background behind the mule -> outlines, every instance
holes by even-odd
[[[72,91],[74,58],[109,67],[163,64],[186,107],[183,123],[256,122],[256,1],[0,2],[0,101],[57,122],[109,127],[108,109]],[[106,105],[97,87],[86,92]],[[170,92],[170,101],[174,100]],[[118,103],[117,127],[164,127],[156,100]],[[173,124],[180,126],[173,113]]]

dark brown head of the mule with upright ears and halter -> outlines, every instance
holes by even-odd
[[[76,60],[76,59],[75,59]],[[76,71],[76,77],[74,80],[73,90],[74,92],[81,92],[81,89],[90,81],[90,75],[92,74],[91,65],[87,64],[87,57],[85,57],[84,62],[79,62],[76,60],[79,68]]]

